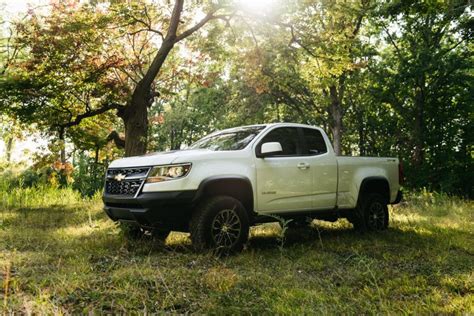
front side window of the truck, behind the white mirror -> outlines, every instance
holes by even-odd
[[[294,127],[277,128],[265,135],[257,147],[257,153],[260,153],[263,143],[270,142],[279,142],[283,149],[283,152],[275,157],[297,156],[301,153],[298,130]]]

